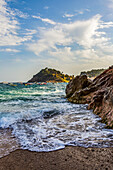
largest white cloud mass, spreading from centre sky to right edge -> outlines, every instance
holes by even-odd
[[[40,28],[37,40],[29,44],[28,49],[37,56],[46,53],[46,57],[67,63],[78,60],[94,63],[101,59],[105,62],[105,57],[111,58],[109,49],[112,50],[112,44],[104,28],[113,27],[113,22],[104,22],[101,18],[95,15],[88,20],[55,22],[50,28]]]

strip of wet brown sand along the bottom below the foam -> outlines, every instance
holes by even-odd
[[[113,148],[66,146],[51,152],[18,149],[0,158],[0,170],[113,169]]]

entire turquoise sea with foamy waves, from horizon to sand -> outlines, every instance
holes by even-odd
[[[113,130],[87,105],[68,102],[66,85],[0,84],[0,157],[16,149],[113,147]]]

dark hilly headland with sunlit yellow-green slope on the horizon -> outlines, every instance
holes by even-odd
[[[28,82],[69,82],[73,77],[46,67],[34,75]]]

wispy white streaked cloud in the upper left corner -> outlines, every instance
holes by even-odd
[[[31,36],[19,35],[20,23],[5,0],[0,0],[0,46],[20,45],[31,39]],[[22,16],[21,16],[22,17]]]

